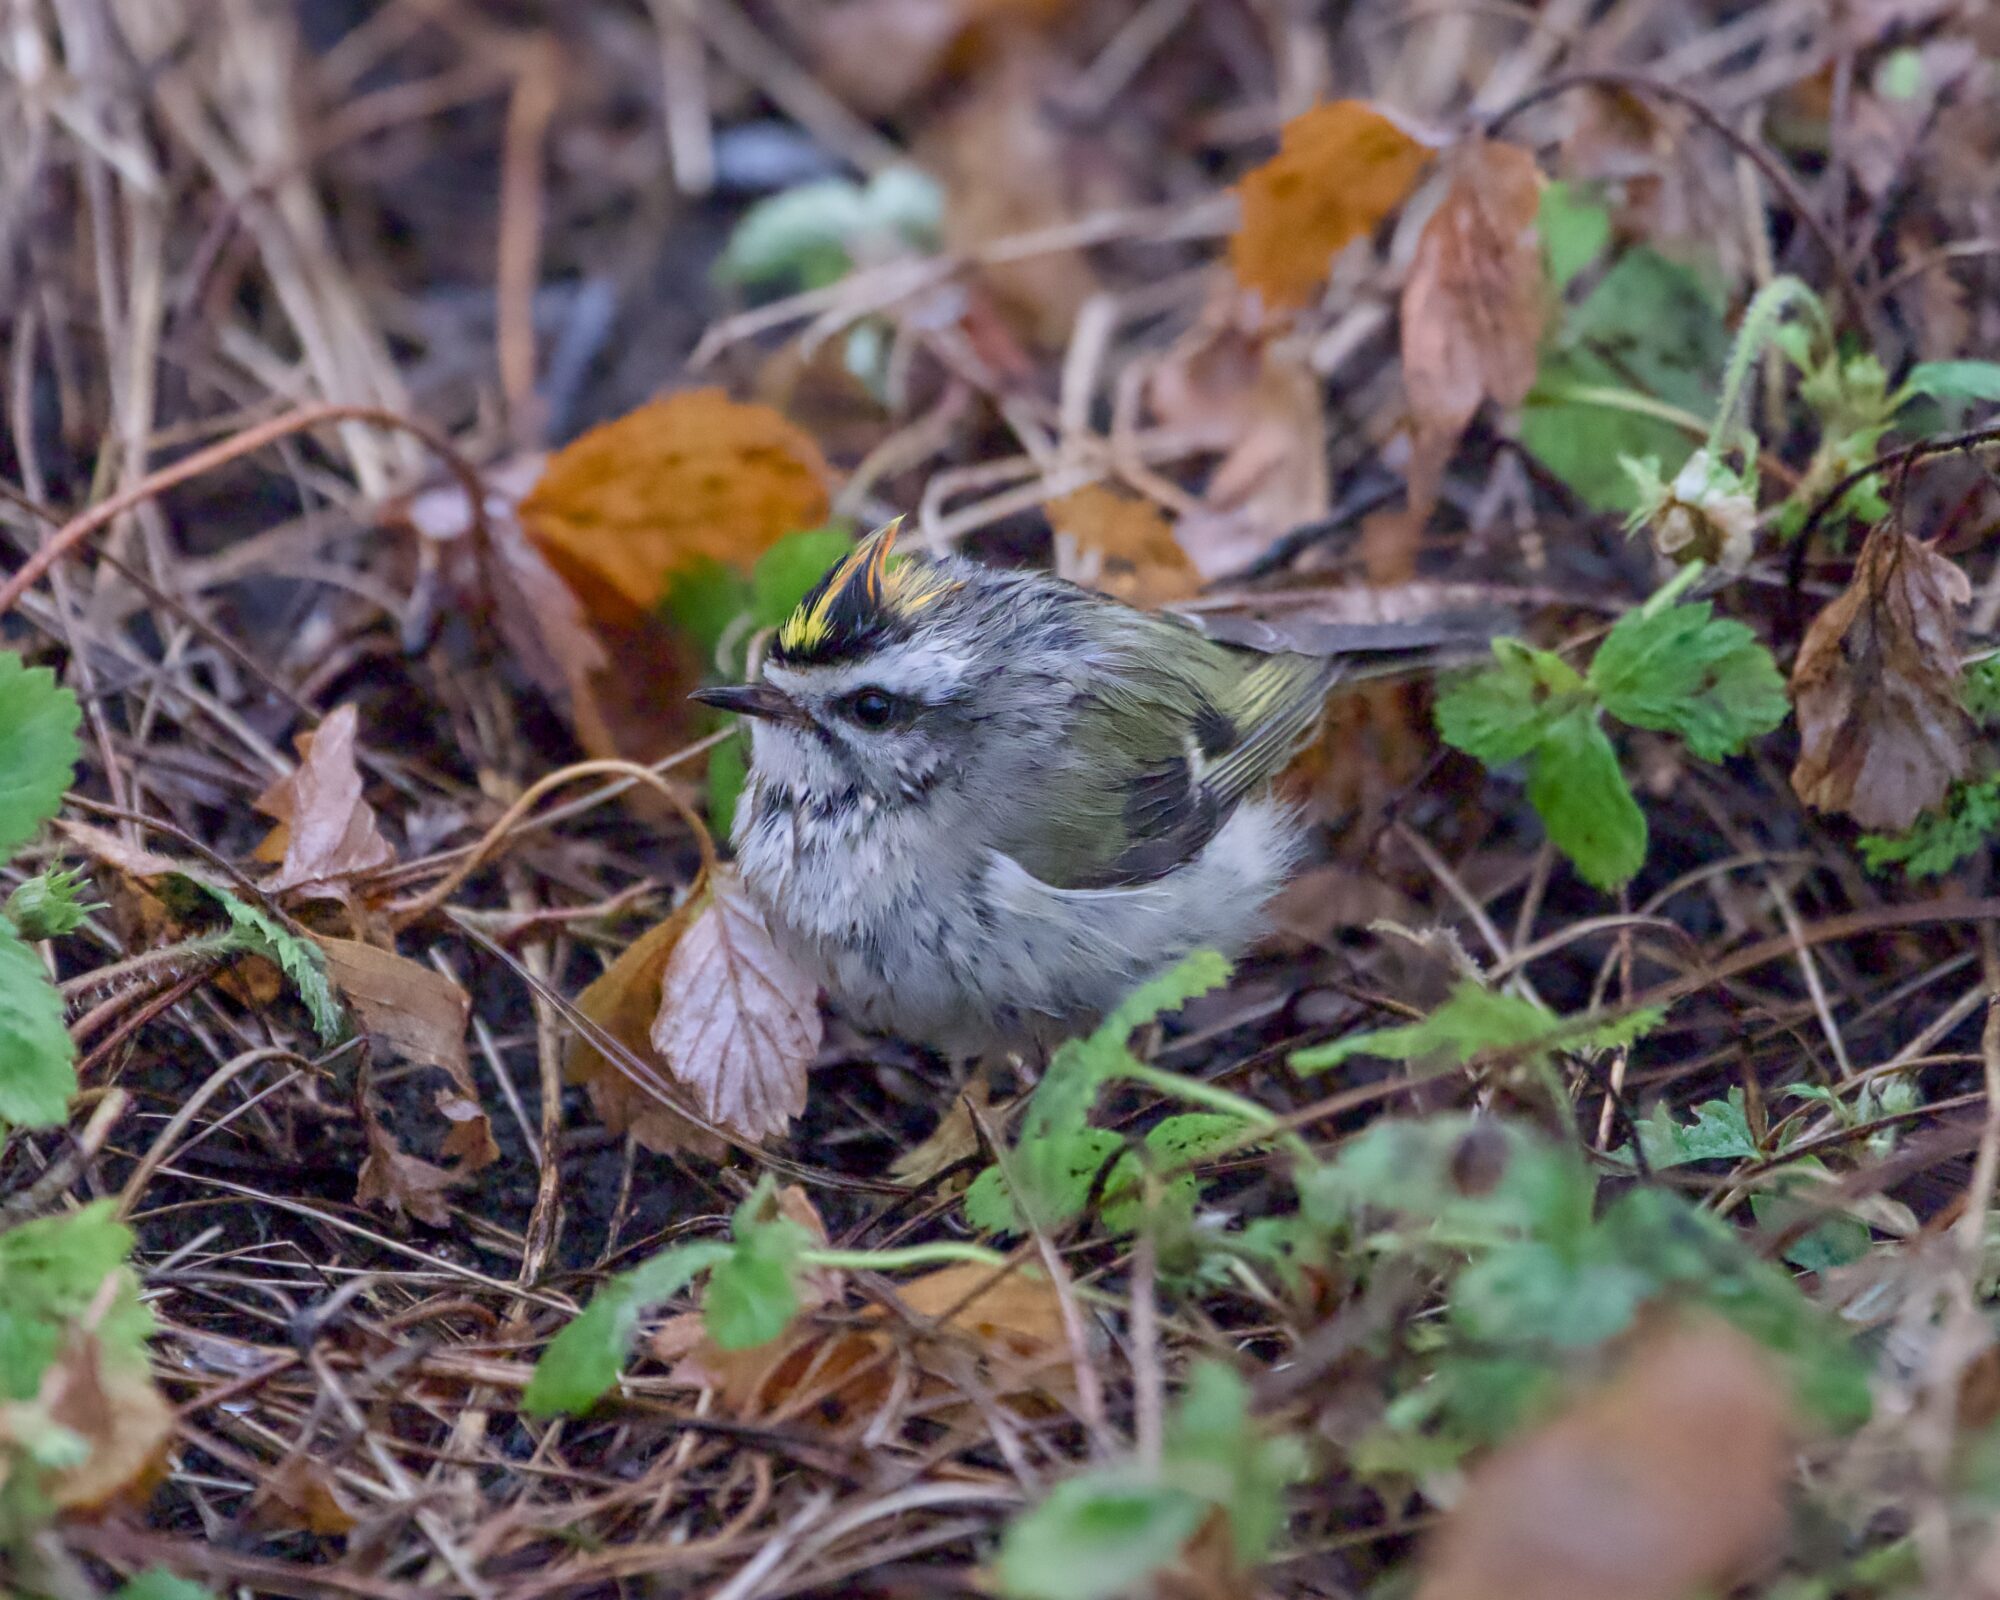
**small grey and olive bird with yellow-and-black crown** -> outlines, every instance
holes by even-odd
[[[962,1052],[1250,944],[1304,850],[1270,780],[1368,666],[1040,572],[892,568],[894,538],[814,586],[762,682],[694,696],[752,718],[734,844],[778,942],[856,1022]]]

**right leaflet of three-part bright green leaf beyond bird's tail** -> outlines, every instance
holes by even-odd
[[[1590,684],[1620,722],[1680,734],[1708,762],[1768,734],[1790,710],[1770,650],[1706,600],[1626,612],[1598,646]]]

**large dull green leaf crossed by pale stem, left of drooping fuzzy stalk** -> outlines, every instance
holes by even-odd
[[[1636,500],[1618,460],[1652,456],[1672,478],[1696,440],[1662,418],[1568,396],[1616,390],[1706,416],[1728,350],[1720,300],[1694,272],[1626,250],[1542,356],[1520,440],[1594,510],[1630,514]]]

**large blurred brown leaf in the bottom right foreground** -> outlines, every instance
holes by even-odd
[[[1418,1600],[1726,1592],[1784,1534],[1790,1436],[1764,1352],[1718,1318],[1676,1320],[1606,1388],[1480,1462]]]

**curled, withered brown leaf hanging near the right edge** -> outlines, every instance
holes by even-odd
[[[1868,534],[1854,582],[1806,630],[1792,668],[1808,806],[1902,832],[1972,770],[1958,696],[1956,608],[1966,574],[1890,524]]]

